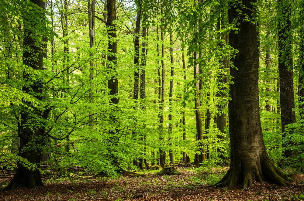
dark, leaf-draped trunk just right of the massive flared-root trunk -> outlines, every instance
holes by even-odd
[[[292,34],[290,31],[290,6],[289,0],[278,0],[279,17],[279,74],[280,74],[280,107],[281,107],[281,125],[283,137],[285,137],[285,128],[288,124],[295,123],[294,91],[293,91],[293,70],[292,70]],[[285,150],[285,157],[293,157],[292,150]]]

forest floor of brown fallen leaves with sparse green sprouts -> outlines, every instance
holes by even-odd
[[[216,182],[227,168],[178,170],[181,175],[154,176],[157,171],[145,171],[146,177],[44,179],[44,187],[0,192],[0,200],[304,200],[304,182],[292,182],[292,186],[288,187],[254,183],[253,188],[246,190],[240,189],[240,186],[227,190],[209,186]],[[0,178],[0,187],[7,185],[9,180],[10,178]]]

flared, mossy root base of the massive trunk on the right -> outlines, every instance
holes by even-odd
[[[280,186],[290,186],[288,181],[292,181],[273,165],[266,151],[255,163],[246,160],[232,162],[226,175],[215,186],[225,186],[232,189],[235,185],[242,184],[242,189],[246,189],[247,186],[252,187],[255,181],[263,184],[263,180]]]

